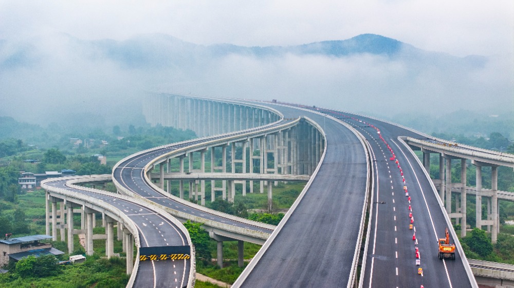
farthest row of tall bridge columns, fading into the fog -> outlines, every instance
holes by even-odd
[[[150,93],[143,105],[146,122],[191,129],[199,137],[263,126],[279,120],[267,109],[184,95]]]

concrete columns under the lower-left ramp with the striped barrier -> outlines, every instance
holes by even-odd
[[[105,239],[105,256],[113,257],[114,254],[114,223],[117,222],[117,240],[123,241],[123,252],[126,252],[126,272],[132,273],[134,261],[134,238],[128,229],[123,227],[122,222],[105,215],[101,211],[88,208],[84,205],[65,201],[64,199],[52,197],[46,192],[46,235],[51,235],[53,241],[67,241],[68,253],[75,250],[74,235],[85,235],[86,255],[93,255],[93,240]],[[59,208],[58,208],[59,206]],[[102,225],[105,227],[105,234],[94,234],[96,226],[96,214],[102,214]],[[80,229],[75,228],[74,214],[80,214]],[[59,229],[59,233],[58,233]],[[51,234],[50,234],[51,231]]]

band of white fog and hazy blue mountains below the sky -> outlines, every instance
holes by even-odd
[[[146,89],[302,103],[392,118],[511,113],[512,55],[456,57],[388,37],[298,46],[196,45],[163,34],[0,40],[0,116],[46,125],[142,121]]]

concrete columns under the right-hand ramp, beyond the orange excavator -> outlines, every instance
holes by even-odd
[[[461,161],[461,182],[451,182],[452,160]],[[430,151],[423,151],[423,163],[425,169],[430,171]],[[487,226],[487,232],[491,233],[491,242],[496,243],[500,232],[500,214],[498,204],[498,165],[472,161],[476,168],[476,227]],[[491,167],[491,190],[482,190],[482,167]],[[439,179],[434,179],[439,186],[439,197],[445,203],[446,212],[450,218],[455,219],[455,224],[461,224],[461,237],[466,237],[466,159],[449,157],[439,154]],[[452,188],[460,189],[460,197],[455,199],[455,210],[452,209]],[[487,219],[482,219],[482,199],[487,201]]]

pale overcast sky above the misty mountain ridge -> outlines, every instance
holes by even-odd
[[[54,32],[87,40],[165,33],[196,44],[243,46],[374,33],[425,50],[489,56],[514,50],[514,1],[0,1],[0,39]]]

